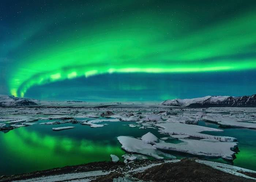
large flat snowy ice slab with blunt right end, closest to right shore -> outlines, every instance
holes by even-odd
[[[153,145],[157,149],[184,152],[193,155],[222,157],[224,159],[233,160],[236,142],[210,142],[195,139],[180,139],[181,143],[166,143],[164,141]]]

